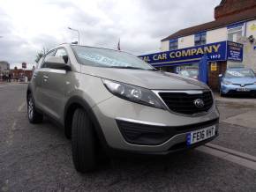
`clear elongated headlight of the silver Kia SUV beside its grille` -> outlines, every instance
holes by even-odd
[[[161,100],[157,98],[154,92],[134,85],[127,85],[124,83],[119,83],[116,81],[110,81],[107,79],[102,79],[103,84],[107,87],[109,92],[113,93],[119,98],[124,100],[130,100],[142,105],[162,108],[163,107]]]

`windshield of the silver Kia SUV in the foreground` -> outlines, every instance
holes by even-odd
[[[79,63],[94,67],[108,67],[134,70],[154,70],[139,57],[106,48],[72,46]]]

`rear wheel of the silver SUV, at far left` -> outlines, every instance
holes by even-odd
[[[27,96],[27,117],[31,123],[39,123],[43,120],[43,115],[35,109],[34,98],[31,93]]]

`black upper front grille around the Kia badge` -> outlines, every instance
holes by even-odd
[[[207,112],[214,103],[212,93],[205,91],[191,94],[188,92],[159,92],[160,97],[169,107],[169,110],[179,114],[199,114]],[[197,107],[194,100],[203,100],[204,106]]]

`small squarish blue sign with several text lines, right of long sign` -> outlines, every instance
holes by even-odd
[[[242,62],[243,44],[227,41],[227,60],[234,62]]]

